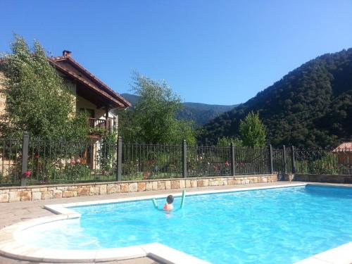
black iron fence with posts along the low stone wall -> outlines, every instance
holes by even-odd
[[[255,175],[352,174],[352,149],[0,139],[0,186]]]

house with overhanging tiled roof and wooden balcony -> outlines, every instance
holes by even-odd
[[[116,110],[125,109],[131,103],[120,94],[104,84],[92,73],[89,73],[80,63],[75,61],[70,51],[63,51],[62,56],[49,57],[49,63],[56,68],[63,80],[70,86],[75,96],[76,112],[89,113],[87,120],[91,127],[92,146],[87,146],[86,151],[80,155],[82,163],[95,168],[97,144],[101,134],[97,131],[105,129],[111,132],[118,128],[118,115]],[[4,77],[0,73],[0,78]],[[6,98],[0,85],[0,115],[4,113]],[[99,147],[99,146],[98,146]]]

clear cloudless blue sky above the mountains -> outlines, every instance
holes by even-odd
[[[116,92],[137,71],[184,101],[232,105],[352,47],[351,28],[352,0],[1,0],[0,51],[16,33],[72,51]]]

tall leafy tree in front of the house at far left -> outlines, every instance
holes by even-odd
[[[11,50],[2,65],[6,95],[2,136],[18,138],[28,131],[31,138],[86,139],[85,115],[75,113],[75,95],[39,42],[30,49],[25,39],[15,35]]]

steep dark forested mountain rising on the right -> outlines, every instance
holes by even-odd
[[[337,146],[352,140],[352,49],[292,70],[255,97],[203,126],[200,142],[237,137],[239,120],[258,112],[274,146]]]

